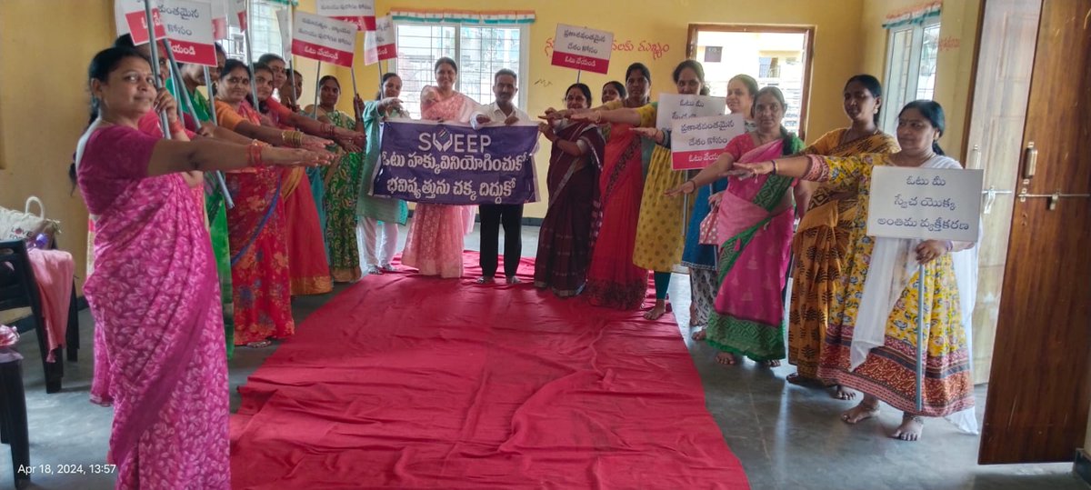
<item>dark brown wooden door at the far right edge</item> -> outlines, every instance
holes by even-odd
[[[1089,80],[1091,0],[1044,0],[1021,139],[1033,150],[1018,175],[982,464],[1072,461],[1083,442],[1091,404]]]

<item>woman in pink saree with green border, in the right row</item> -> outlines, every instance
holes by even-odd
[[[717,162],[679,188],[668,192],[696,191],[731,168],[735,162],[763,162],[792,155],[803,142],[780,124],[787,109],[777,87],[765,87],[754,97],[757,130],[728,143]],[[736,362],[746,356],[765,366],[780,366],[784,358],[784,297],[791,259],[796,180],[781,176],[728,179],[719,199],[716,234],[719,246],[720,288],[704,338],[720,350],[717,361]]]

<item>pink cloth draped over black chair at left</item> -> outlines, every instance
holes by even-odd
[[[31,249],[31,268],[41,295],[41,315],[46,319],[46,337],[49,355],[47,362],[56,361],[53,350],[64,347],[68,331],[68,311],[72,301],[72,279],[75,262],[63,250]]]

